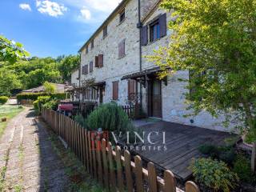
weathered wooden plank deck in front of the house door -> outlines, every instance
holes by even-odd
[[[219,144],[225,138],[232,136],[232,134],[221,131],[185,126],[173,122],[154,122],[140,126],[140,128],[146,132],[146,137],[150,131],[159,132],[158,136],[156,134],[151,136],[152,142],[158,142],[154,146],[162,145],[162,132],[165,131],[167,150],[158,151],[146,148],[147,150],[133,150],[134,153],[139,154],[148,162],[154,162],[163,170],[172,170],[175,176],[183,181],[190,178],[192,174],[189,170],[192,158],[202,157],[198,150],[199,146],[209,142]],[[145,146],[148,145],[150,143],[145,143]]]

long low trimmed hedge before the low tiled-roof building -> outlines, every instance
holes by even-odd
[[[17,94],[18,101],[24,100],[37,100],[40,96],[50,96],[50,98],[56,98],[59,100],[70,98],[70,94],[62,93],[62,94],[46,94],[46,93],[34,93],[34,94]]]

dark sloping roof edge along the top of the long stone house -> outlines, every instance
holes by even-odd
[[[106,20],[102,23],[101,26],[98,27],[98,30],[96,30],[94,32],[94,34],[92,34],[92,36],[86,41],[86,43],[80,48],[80,50],[78,50],[79,53],[82,52],[82,50],[90,43],[90,41],[92,39],[95,38],[95,36],[103,29],[104,26],[106,26],[108,24],[108,22],[110,22],[110,20],[115,16],[115,14],[118,13],[118,11],[122,8],[122,6],[126,5],[127,2],[129,2],[130,0],[122,0],[122,2],[119,3],[119,5],[114,9],[114,11],[110,14],[110,16],[108,18],[106,18]]]

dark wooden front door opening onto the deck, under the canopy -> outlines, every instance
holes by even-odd
[[[161,91],[161,81],[154,80],[151,86],[151,109],[152,116],[155,118],[162,118],[162,91]]]

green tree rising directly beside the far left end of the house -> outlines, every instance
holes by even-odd
[[[60,70],[62,74],[63,81],[70,81],[72,71],[79,66],[79,55],[69,55],[65,58],[60,56],[58,57],[58,61],[60,61],[58,64],[58,70]]]

